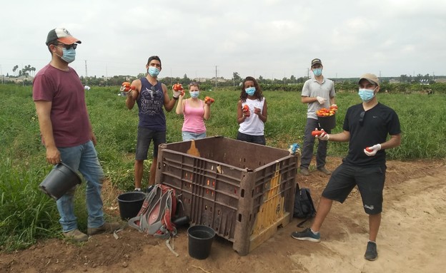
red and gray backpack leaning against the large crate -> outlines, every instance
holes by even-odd
[[[176,210],[175,190],[162,184],[154,185],[138,215],[129,220],[129,226],[154,237],[169,239],[177,235],[177,228],[172,223]]]

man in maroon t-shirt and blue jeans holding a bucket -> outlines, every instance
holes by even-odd
[[[96,137],[91,130],[86,110],[84,86],[69,63],[76,57],[81,43],[63,28],[52,29],[46,38],[51,61],[34,78],[33,99],[39,118],[42,143],[46,148],[46,161],[63,162],[81,172],[86,180],[87,234],[113,232],[118,222],[104,222],[101,188],[104,171],[99,164]],[[88,235],[79,231],[74,215],[74,192],[66,192],[56,201],[62,231],[65,237],[84,242]]]

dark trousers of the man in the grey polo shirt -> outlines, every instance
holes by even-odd
[[[314,118],[307,118],[307,125],[305,125],[304,132],[304,145],[302,146],[302,154],[300,156],[300,168],[309,168],[313,157],[314,136],[312,131],[315,128],[319,128],[319,122]],[[327,133],[331,133],[332,130],[325,130]],[[327,158],[327,144],[328,141],[317,141],[317,153],[316,153],[316,168],[322,168],[325,166],[325,158]]]

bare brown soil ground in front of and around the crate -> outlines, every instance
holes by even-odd
[[[329,158],[333,170],[341,158]],[[126,227],[117,235],[94,235],[84,244],[63,239],[37,242],[29,249],[0,254],[0,272],[442,272],[446,267],[446,161],[387,162],[384,211],[377,239],[379,258],[364,259],[368,217],[359,192],[344,204],[334,203],[322,226],[320,243],[290,237],[299,219],[246,256],[232,243],[217,237],[207,259],[189,257],[187,227],[173,240],[179,257],[165,241]],[[317,205],[328,176],[312,171],[298,175]],[[118,192],[104,187],[104,199],[119,215]],[[107,202],[106,202],[107,203]],[[304,226],[308,227],[309,222]],[[443,268],[443,269],[442,269]]]

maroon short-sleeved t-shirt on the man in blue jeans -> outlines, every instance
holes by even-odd
[[[56,147],[73,147],[90,140],[84,86],[76,71],[42,68],[33,81],[34,101],[51,101],[51,123]],[[45,140],[42,140],[43,142]]]

